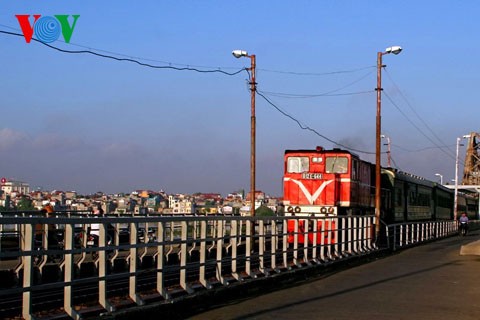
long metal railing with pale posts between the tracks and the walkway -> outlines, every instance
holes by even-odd
[[[288,283],[447,238],[458,229],[455,221],[383,225],[381,239],[374,239],[372,216],[63,212],[50,218],[2,213],[0,221],[0,315],[7,319],[115,318],[223,292],[228,297],[265,281]]]

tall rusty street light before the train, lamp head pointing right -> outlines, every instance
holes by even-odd
[[[402,51],[400,46],[388,47],[385,52],[377,52],[377,124],[376,124],[376,146],[375,146],[375,236],[380,235],[380,206],[381,206],[381,108],[382,108],[382,57],[385,54],[399,54]]]

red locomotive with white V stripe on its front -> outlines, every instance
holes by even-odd
[[[374,213],[374,166],[340,149],[286,150],[283,180],[286,216],[333,217]],[[289,242],[297,220],[289,220]],[[325,225],[323,225],[323,222]],[[298,220],[298,242],[303,243],[305,221]],[[308,240],[313,241],[312,226]],[[334,243],[334,221],[317,222],[317,243]],[[323,240],[322,240],[323,238]],[[322,242],[321,242],[322,241]]]

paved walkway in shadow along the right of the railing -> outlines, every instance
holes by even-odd
[[[411,248],[189,319],[478,320],[479,239],[476,231]]]

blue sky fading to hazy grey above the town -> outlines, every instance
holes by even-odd
[[[383,59],[382,131],[395,166],[449,181],[456,138],[478,131],[477,1],[2,0],[0,30],[21,33],[16,14],[79,14],[71,42],[51,45],[154,65],[235,72],[250,61],[232,50],[255,54],[258,91],[321,135],[257,96],[257,189],[270,195],[284,150],[335,146],[322,136],[374,161],[376,58],[392,45],[404,50]],[[2,33],[0,48],[0,176],[80,193],[249,189],[246,72],[152,69]]]

